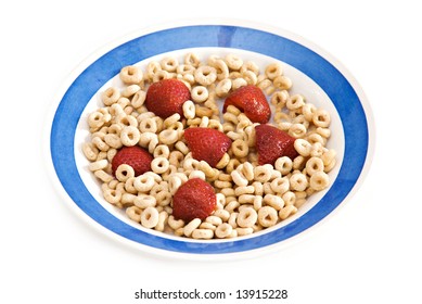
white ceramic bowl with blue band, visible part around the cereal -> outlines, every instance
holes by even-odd
[[[293,81],[292,92],[330,112],[329,147],[337,152],[329,189],[312,194],[297,214],[254,235],[230,240],[199,241],[145,229],[102,198],[100,185],[87,169],[81,144],[89,136],[87,116],[101,106],[99,92],[118,86],[125,65],[145,64],[164,55],[181,59],[188,51],[202,59],[239,54],[260,67],[281,62]],[[356,191],[372,157],[372,114],[365,94],[347,69],[325,51],[292,33],[244,22],[183,23],[135,33],[111,43],[77,68],[60,93],[49,122],[50,163],[54,185],[106,235],[136,248],[171,255],[236,255],[280,246],[315,227]]]

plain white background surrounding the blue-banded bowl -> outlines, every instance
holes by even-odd
[[[133,299],[141,288],[289,291],[285,301],[250,303],[422,303],[417,1],[250,2],[0,4],[1,303],[152,303]],[[47,173],[47,117],[72,71],[133,30],[192,17],[234,17],[298,34],[340,60],[371,103],[376,147],[369,175],[343,208],[289,248],[229,262],[145,254],[80,219]]]

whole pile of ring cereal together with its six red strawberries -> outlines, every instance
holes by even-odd
[[[235,238],[329,187],[330,115],[291,94],[281,63],[260,71],[235,54],[189,52],[125,66],[119,79],[89,114],[82,152],[104,199],[139,225]]]

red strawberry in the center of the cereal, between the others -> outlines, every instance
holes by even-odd
[[[212,128],[188,128],[184,130],[184,139],[193,159],[205,161],[212,167],[217,165],[231,145],[231,139],[227,135]]]

